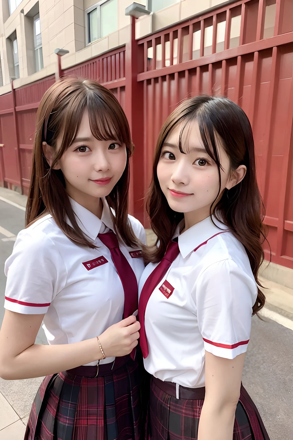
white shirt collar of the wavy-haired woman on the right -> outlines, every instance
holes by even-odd
[[[178,246],[183,258],[187,257],[195,248],[204,243],[213,235],[218,234],[221,231],[227,231],[228,227],[221,223],[212,215],[213,221],[210,216],[206,219],[196,223],[190,227],[183,234],[180,234],[180,229],[184,225],[184,219],[177,225],[174,237],[178,237]],[[213,223],[214,222],[214,223]]]

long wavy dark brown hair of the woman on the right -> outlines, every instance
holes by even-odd
[[[145,249],[147,262],[160,261],[167,244],[174,234],[183,213],[173,211],[164,196],[157,177],[157,165],[161,150],[170,131],[182,123],[179,136],[179,149],[182,150],[182,136],[188,125],[198,121],[199,131],[206,152],[215,161],[219,171],[219,191],[213,202],[210,215],[226,224],[233,235],[242,243],[250,260],[251,269],[258,285],[258,270],[264,259],[262,243],[265,235],[262,224],[264,205],[257,187],[255,171],[253,134],[248,117],[235,103],[225,97],[195,96],[184,100],[167,118],[156,145],[153,163],[153,178],[147,196],[147,211],[150,216],[152,230],[157,235],[157,245]],[[218,156],[217,143],[220,140],[231,168],[246,165],[246,176],[241,183],[233,187],[229,194],[224,190],[217,201],[221,188],[221,164]],[[232,194],[230,194],[232,192]],[[164,227],[162,227],[164,225]],[[264,306],[264,294],[258,288],[257,301],[253,306],[253,314]]]

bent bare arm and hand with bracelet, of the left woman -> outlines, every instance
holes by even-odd
[[[0,377],[27,379],[59,373],[102,358],[97,338],[65,345],[35,344],[44,315],[5,311],[0,330]],[[99,336],[106,357],[125,356],[137,345],[140,324],[129,316]]]

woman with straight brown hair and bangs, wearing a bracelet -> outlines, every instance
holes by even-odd
[[[36,115],[26,228],[5,264],[0,376],[46,376],[26,440],[141,436],[135,350],[142,225],[127,215],[127,119],[109,90],[65,77]],[[49,345],[36,345],[43,321]]]

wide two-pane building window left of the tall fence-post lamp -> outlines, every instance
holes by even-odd
[[[87,43],[117,30],[117,7],[117,0],[102,0],[85,11]]]

